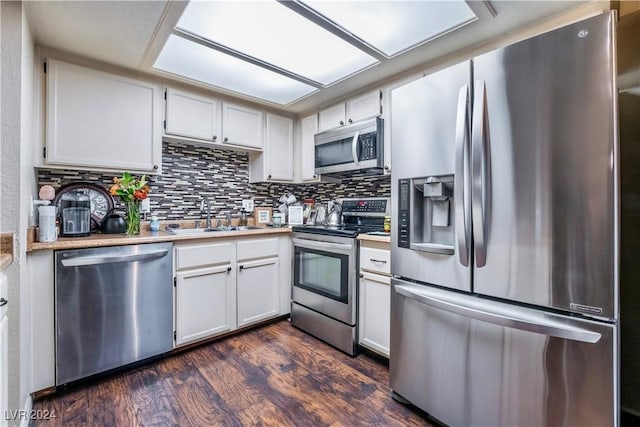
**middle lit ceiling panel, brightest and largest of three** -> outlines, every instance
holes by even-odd
[[[322,85],[378,62],[276,1],[192,1],[176,28]]]

